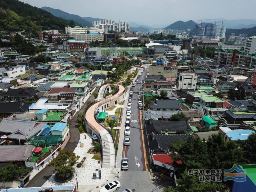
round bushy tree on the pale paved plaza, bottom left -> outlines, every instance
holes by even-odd
[[[62,150],[47,166],[54,167],[60,179],[70,178],[74,164],[78,161],[79,156],[72,151]]]

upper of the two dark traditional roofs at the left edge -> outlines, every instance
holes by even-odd
[[[2,96],[7,97],[32,97],[36,94],[37,90],[28,88],[28,89],[8,89],[7,92],[4,92]]]

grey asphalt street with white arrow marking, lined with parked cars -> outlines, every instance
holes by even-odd
[[[139,72],[140,73],[140,72]],[[130,146],[125,147],[125,156],[129,158],[128,170],[129,171],[144,171],[145,160],[142,146],[142,127],[140,123],[140,114],[138,110],[138,93],[141,88],[141,80],[144,77],[145,72],[138,80],[135,87],[133,87],[132,94],[132,109],[130,119]]]

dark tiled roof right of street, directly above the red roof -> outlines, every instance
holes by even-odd
[[[148,134],[148,145],[151,154],[168,154],[174,141],[182,140],[186,142],[192,134]]]

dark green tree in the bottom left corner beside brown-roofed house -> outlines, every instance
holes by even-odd
[[[19,168],[16,164],[8,163],[0,169],[0,182],[12,182],[20,176]]]

